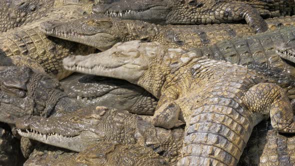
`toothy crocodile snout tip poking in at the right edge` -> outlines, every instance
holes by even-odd
[[[292,62],[295,66],[295,38],[276,45],[275,51],[281,58]]]

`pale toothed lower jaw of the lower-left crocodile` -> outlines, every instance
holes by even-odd
[[[77,152],[80,152],[84,150],[87,146],[97,142],[97,140],[95,139],[96,134],[89,131],[82,131],[79,135],[75,136],[65,136],[54,132],[40,133],[33,129],[17,129],[17,133],[23,137]]]

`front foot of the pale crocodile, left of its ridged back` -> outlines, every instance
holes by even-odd
[[[153,115],[152,123],[163,128],[172,128],[184,124],[178,120],[180,107],[174,102],[167,102],[158,108]]]

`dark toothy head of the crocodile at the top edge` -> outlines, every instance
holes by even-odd
[[[119,0],[110,4],[98,4],[92,8],[92,11],[122,19],[164,23],[171,9],[169,0]]]

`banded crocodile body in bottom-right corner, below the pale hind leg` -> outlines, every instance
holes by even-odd
[[[254,127],[238,165],[294,165],[295,136],[281,134],[263,121]]]

